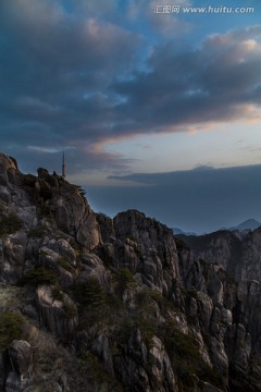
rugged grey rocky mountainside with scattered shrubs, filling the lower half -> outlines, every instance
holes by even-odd
[[[261,232],[222,238],[0,155],[0,391],[261,391]]]

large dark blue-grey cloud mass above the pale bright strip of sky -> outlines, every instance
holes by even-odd
[[[29,146],[38,162],[38,147],[42,154],[54,148],[48,155],[54,166],[55,154],[77,149],[72,171],[125,168],[124,157],[102,150],[105,140],[186,131],[259,108],[260,26],[208,37],[186,51],[174,40],[149,48],[145,37],[122,27],[117,1],[97,4],[1,0],[0,132],[7,154],[16,149],[21,160]],[[140,3],[132,4],[125,17],[139,12]]]

